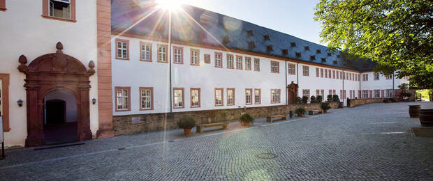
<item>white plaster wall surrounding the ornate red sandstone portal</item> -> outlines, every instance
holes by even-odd
[[[76,2],[75,23],[41,17],[41,1],[7,1],[6,8],[6,12],[0,11],[0,73],[10,74],[11,130],[4,136],[6,145],[24,145],[27,137],[26,91],[23,87],[25,75],[17,70],[20,65],[18,57],[24,54],[30,63],[38,56],[54,53],[57,50],[56,43],[60,41],[64,45],[64,54],[77,58],[86,67],[89,61],[97,65],[96,0]],[[97,73],[90,77],[90,100],[98,97]],[[19,99],[24,101],[23,107],[17,106],[16,101]],[[90,128],[96,134],[98,105],[91,104],[91,101]]]

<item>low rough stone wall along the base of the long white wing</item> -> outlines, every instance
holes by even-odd
[[[336,102],[331,102],[332,109],[337,108]],[[270,115],[288,114],[298,107],[304,107],[307,111],[321,110],[319,103],[313,104],[291,104],[272,107],[250,107],[245,111],[254,118],[262,118]],[[149,113],[129,116],[113,116],[113,128],[115,136],[125,134],[139,134],[143,132],[154,132],[163,129],[176,129],[177,120],[182,116],[191,116],[196,119],[197,124],[219,123],[224,120],[237,120],[244,109],[223,109],[208,111],[186,111],[178,113]],[[224,116],[226,115],[226,116]],[[224,118],[226,117],[226,119]]]

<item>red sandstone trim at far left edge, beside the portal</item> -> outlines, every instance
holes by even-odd
[[[3,116],[3,132],[9,132],[9,74],[0,74],[1,79],[1,88],[3,88],[3,97],[0,96],[3,101],[3,110],[1,111],[1,115]]]

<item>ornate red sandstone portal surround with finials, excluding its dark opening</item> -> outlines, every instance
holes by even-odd
[[[89,70],[73,56],[63,54],[63,45],[56,45],[55,54],[39,56],[27,66],[27,58],[20,56],[18,70],[26,74],[27,92],[26,146],[44,145],[45,97],[53,91],[67,91],[76,100],[77,140],[91,139],[89,113],[89,77],[95,73],[93,61]]]

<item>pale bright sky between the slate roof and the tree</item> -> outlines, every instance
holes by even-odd
[[[176,1],[176,0],[175,0]],[[235,17],[310,42],[321,43],[321,24],[315,22],[318,0],[177,0]]]

